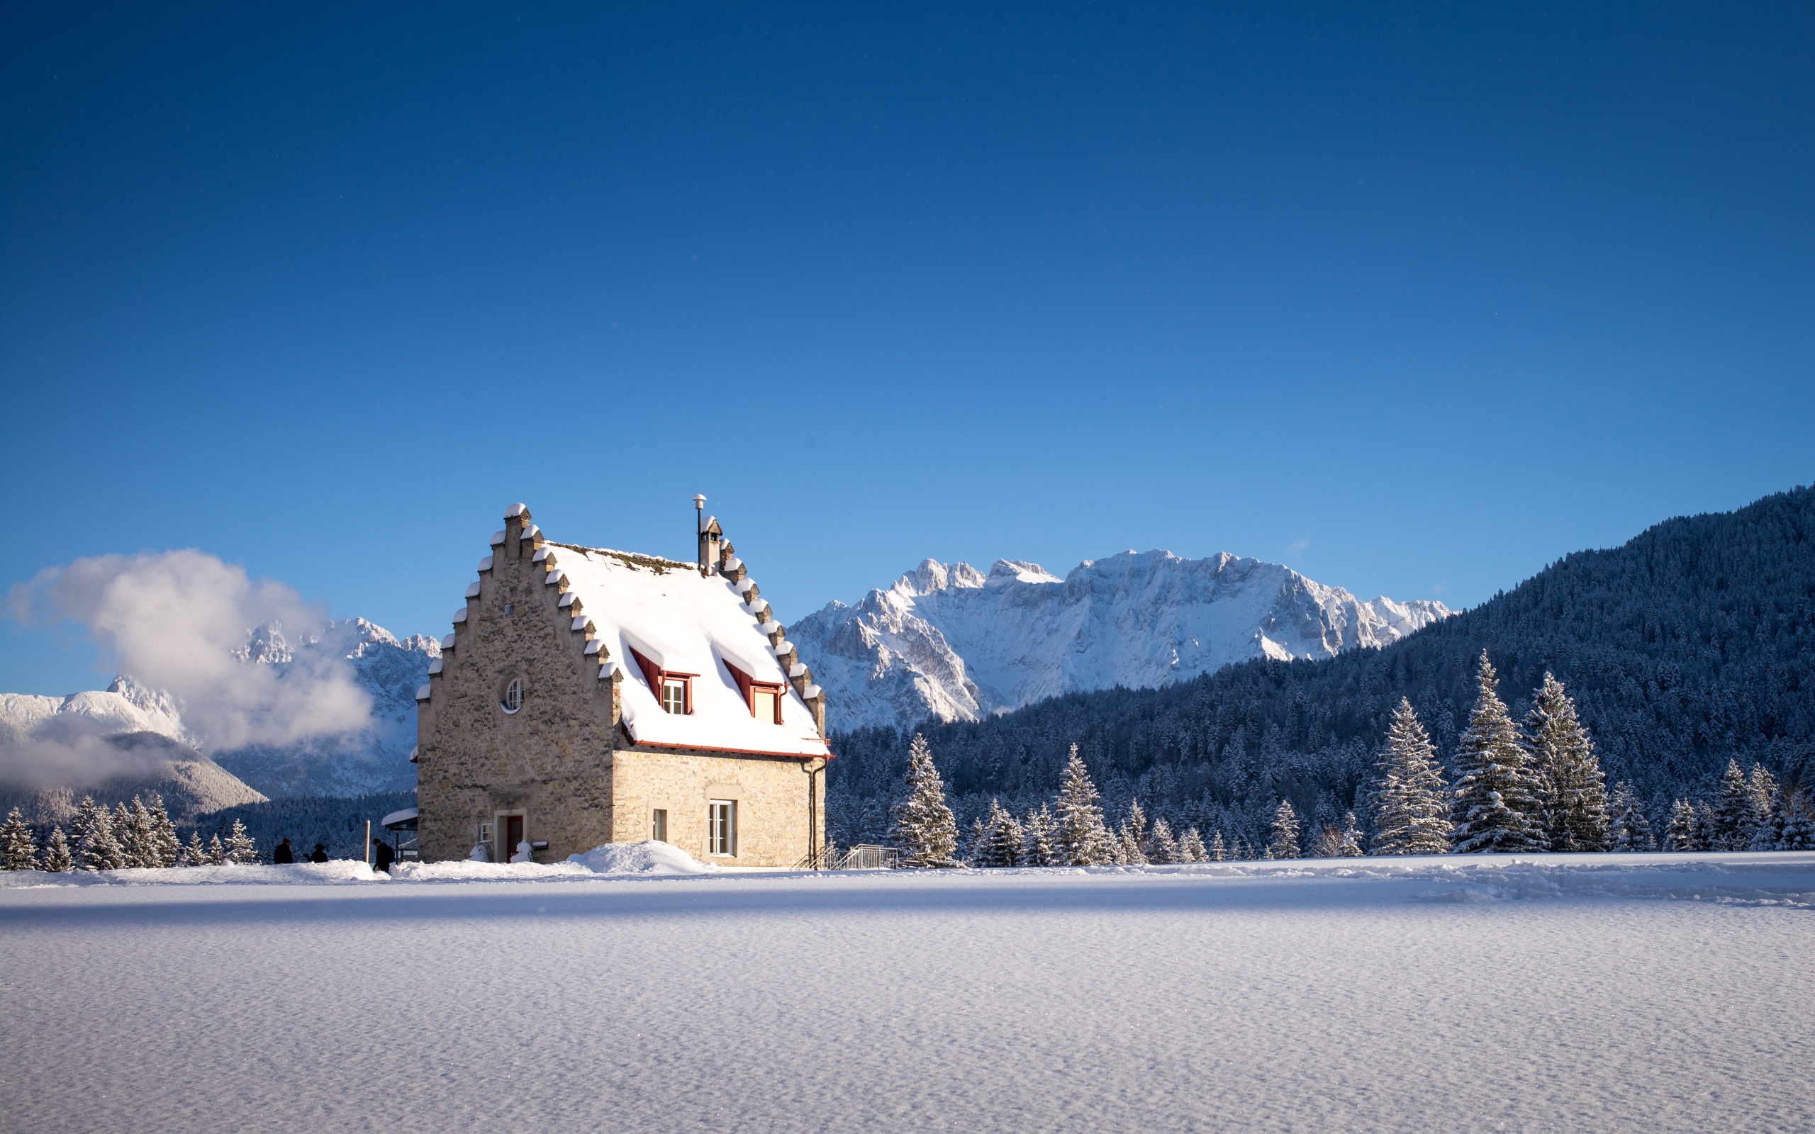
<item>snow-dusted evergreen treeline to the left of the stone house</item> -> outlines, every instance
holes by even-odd
[[[329,858],[365,858],[365,824],[416,804],[414,791],[354,797],[294,797],[223,807],[196,816],[182,840],[158,795],[107,807],[85,797],[69,820],[34,827],[18,807],[0,826],[0,869],[116,871],[270,862],[289,836],[298,862],[314,844]]]

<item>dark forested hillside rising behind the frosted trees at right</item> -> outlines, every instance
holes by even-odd
[[[1523,717],[1543,673],[1575,697],[1610,784],[1653,824],[1712,798],[1730,758],[1815,780],[1815,490],[1661,523],[1577,552],[1516,590],[1385,650],[1252,660],[1160,689],[1055,697],[978,722],[927,724],[960,829],[1000,797],[1051,798],[1080,746],[1111,816],[1138,798],[1174,827],[1260,842],[1281,798],[1321,824],[1365,791],[1390,709],[1408,697],[1445,760],[1486,650]],[[837,735],[828,820],[839,844],[882,840],[911,733]]]

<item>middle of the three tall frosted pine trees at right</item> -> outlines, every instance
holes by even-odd
[[[1456,751],[1459,777],[1450,807],[1450,849],[1459,855],[1545,849],[1537,826],[1537,782],[1506,704],[1494,689],[1497,680],[1483,650],[1476,670],[1479,693]]]

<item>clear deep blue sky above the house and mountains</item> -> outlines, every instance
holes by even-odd
[[[704,492],[784,619],[1125,548],[1461,608],[1815,479],[1806,5],[519,11],[0,16],[0,584],[445,633],[512,501]]]

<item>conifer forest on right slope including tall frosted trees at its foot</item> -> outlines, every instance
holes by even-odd
[[[1123,847],[1140,826],[1142,846],[1191,833],[1252,858],[1320,846],[1802,849],[1815,490],[1577,552],[1378,651],[835,735],[835,844],[900,836],[915,735],[967,862],[1004,842],[1004,820],[1025,838],[1076,795],[1080,767]]]

